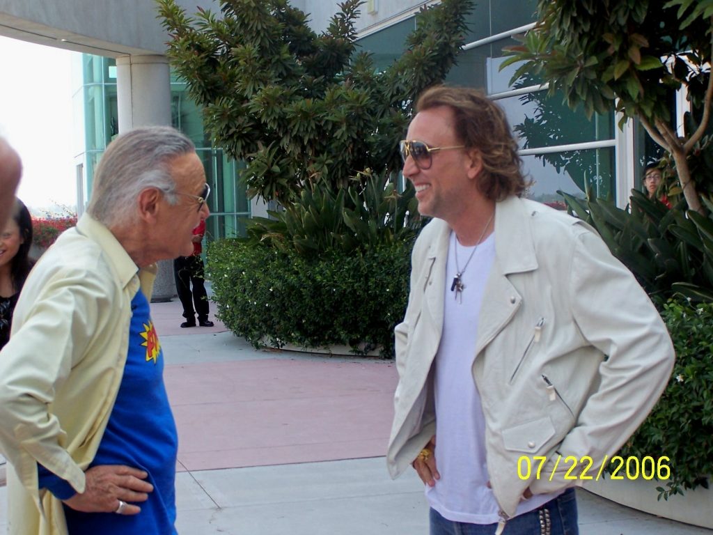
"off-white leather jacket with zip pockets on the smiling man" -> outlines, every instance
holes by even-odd
[[[436,433],[431,366],[450,232],[434,219],[414,245],[409,306],[395,330],[391,477]],[[660,397],[674,350],[644,290],[582,221],[507,198],[496,203],[495,248],[471,370],[486,420],[488,473],[506,520],[528,487],[541,494],[580,482],[565,479],[572,464],[565,457],[591,457],[589,472],[597,474]],[[520,479],[518,459],[535,455],[548,458],[540,479],[535,470]]]

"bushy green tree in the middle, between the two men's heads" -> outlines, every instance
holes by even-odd
[[[221,0],[220,16],[195,17],[175,0],[157,4],[168,56],[204,106],[207,131],[247,162],[251,195],[287,203],[305,186],[335,191],[358,171],[400,167],[412,103],[455,63],[472,1],[424,7],[408,50],[383,72],[356,53],[360,0],[340,4],[321,35],[287,0]]]

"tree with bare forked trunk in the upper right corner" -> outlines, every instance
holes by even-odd
[[[539,0],[538,23],[503,66],[524,61],[513,78],[540,76],[588,117],[615,106],[622,121],[639,118],[670,153],[689,208],[704,212],[688,157],[711,141],[712,16],[710,0]],[[697,113],[679,137],[667,94],[682,86]]]

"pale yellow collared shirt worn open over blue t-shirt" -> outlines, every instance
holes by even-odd
[[[61,501],[38,489],[37,463],[82,492],[123,375],[138,270],[85,214],[25,282],[0,352],[0,451],[8,458],[8,532],[65,535]]]

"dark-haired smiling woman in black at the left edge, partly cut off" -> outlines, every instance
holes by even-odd
[[[16,199],[11,218],[0,229],[0,349],[10,338],[12,312],[32,267],[32,219],[21,200]]]

